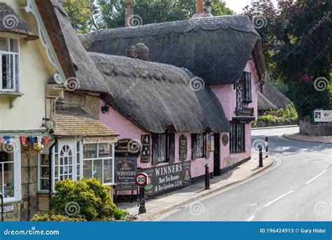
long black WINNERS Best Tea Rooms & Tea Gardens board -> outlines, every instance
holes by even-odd
[[[148,195],[183,187],[191,182],[191,161],[146,168],[143,171],[148,175],[148,183],[145,185]]]

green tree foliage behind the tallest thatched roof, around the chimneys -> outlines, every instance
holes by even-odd
[[[65,9],[71,25],[80,33],[91,29],[125,26],[123,0],[66,0]],[[190,19],[195,13],[196,0],[139,0],[134,14],[141,23],[172,22]],[[232,15],[223,0],[212,0],[213,15]]]

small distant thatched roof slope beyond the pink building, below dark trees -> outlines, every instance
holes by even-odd
[[[277,88],[265,82],[263,86],[263,95],[267,98],[277,109],[284,109],[287,105],[291,104],[291,100],[282,94]],[[258,108],[259,109],[259,108]]]

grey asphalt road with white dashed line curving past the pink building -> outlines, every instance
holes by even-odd
[[[269,136],[279,160],[241,185],[159,216],[160,221],[331,221],[332,145],[282,138],[298,128],[252,131],[252,142]],[[253,144],[254,145],[254,144]]]

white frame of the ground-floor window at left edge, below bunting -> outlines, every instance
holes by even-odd
[[[22,199],[21,195],[21,145],[20,145],[20,138],[18,137],[11,137],[11,141],[15,141],[17,149],[13,152],[14,158],[14,196],[11,197],[4,197],[4,204],[8,204],[14,201],[20,201]],[[6,142],[1,142],[2,144],[6,144]],[[1,176],[0,176],[1,177]],[[1,177],[2,178],[2,177]],[[4,182],[3,182],[4,183]],[[2,192],[2,189],[0,190]]]

